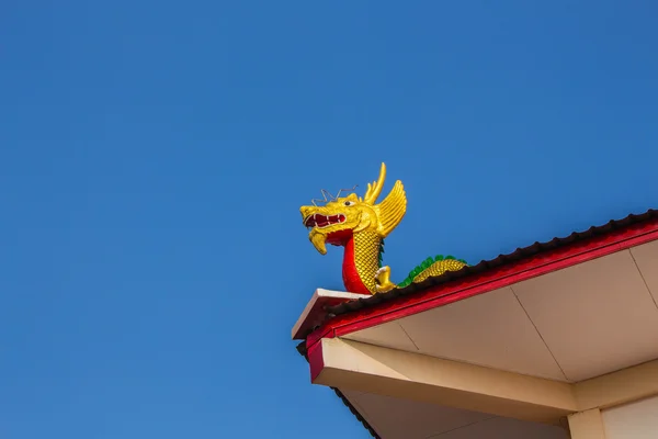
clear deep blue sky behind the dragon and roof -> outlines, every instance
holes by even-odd
[[[394,281],[658,206],[657,4],[495,3],[2,2],[0,436],[366,437],[290,329],[381,161]]]

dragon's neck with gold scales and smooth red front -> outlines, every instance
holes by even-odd
[[[343,282],[351,293],[375,294],[382,238],[374,232],[354,234],[345,244]]]

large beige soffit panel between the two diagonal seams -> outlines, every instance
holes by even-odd
[[[658,357],[658,308],[629,250],[512,289],[569,381]]]

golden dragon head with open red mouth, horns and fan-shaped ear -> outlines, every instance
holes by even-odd
[[[355,193],[331,198],[322,206],[302,206],[304,225],[310,229],[308,238],[322,255],[326,244],[344,246],[355,234],[374,232],[385,238],[400,223],[407,212],[407,195],[401,181],[396,181],[390,193],[375,204],[386,179],[386,165],[382,164],[377,181],[367,184],[363,198]]]

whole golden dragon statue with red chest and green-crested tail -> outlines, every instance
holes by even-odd
[[[343,283],[347,291],[361,294],[386,293],[411,283],[456,271],[466,261],[452,256],[426,259],[400,283],[390,281],[390,268],[382,266],[384,238],[400,224],[407,212],[407,195],[401,181],[396,181],[390,193],[378,204],[377,199],[386,179],[386,165],[382,164],[377,181],[367,184],[363,198],[350,193],[341,198],[324,193],[325,205],[300,207],[304,225],[310,229],[308,238],[321,254],[327,254],[327,244],[344,247],[342,264]]]

